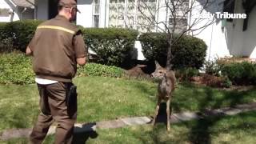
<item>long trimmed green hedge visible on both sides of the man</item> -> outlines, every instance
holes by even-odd
[[[4,46],[2,49],[12,47],[25,52],[36,27],[41,22],[25,20],[0,24],[0,42]],[[80,29],[84,34],[86,45],[98,54],[96,62],[110,66],[129,67],[130,51],[134,48],[137,31],[117,28],[82,28],[82,26]]]

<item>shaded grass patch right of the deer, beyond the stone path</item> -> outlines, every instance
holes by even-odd
[[[221,107],[234,107],[238,104],[251,102],[256,87],[246,90],[220,90],[208,86],[196,86],[190,83],[182,84],[182,88],[174,92],[171,105],[175,111],[182,110],[206,110]]]

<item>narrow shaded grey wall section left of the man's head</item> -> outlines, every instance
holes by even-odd
[[[48,19],[48,0],[35,0],[36,17],[39,20]]]

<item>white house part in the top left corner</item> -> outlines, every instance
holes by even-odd
[[[34,0],[0,0],[0,22],[34,19]]]

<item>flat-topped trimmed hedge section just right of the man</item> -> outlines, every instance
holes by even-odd
[[[128,66],[131,63],[130,51],[138,33],[135,30],[116,28],[83,29],[88,48],[98,54],[96,62],[110,66]]]

